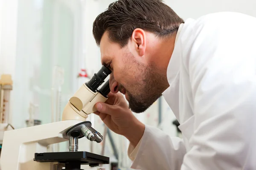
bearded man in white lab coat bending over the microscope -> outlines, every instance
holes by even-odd
[[[96,114],[131,142],[132,168],[256,169],[256,18],[221,12],[184,22],[160,0],[119,0],[96,18],[93,35],[112,70]],[[131,113],[162,94],[183,139]]]

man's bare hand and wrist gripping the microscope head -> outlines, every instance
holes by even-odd
[[[110,92],[108,97],[105,103],[96,103],[95,114],[113,132],[125,136],[136,147],[143,136],[145,125],[133,115],[122,94]]]

